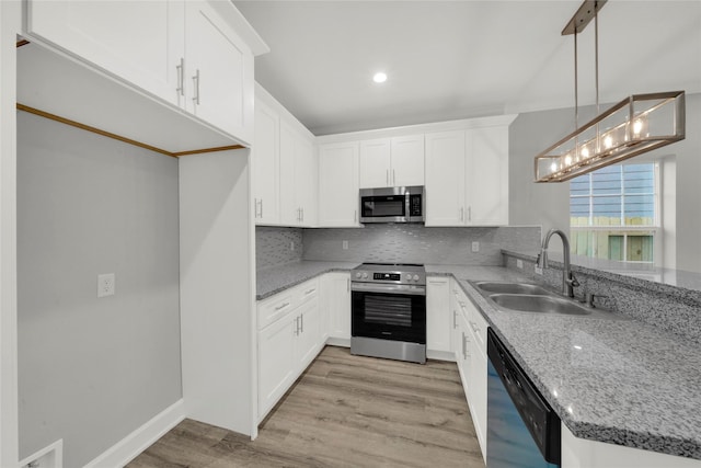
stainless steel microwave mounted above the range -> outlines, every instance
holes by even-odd
[[[360,222],[424,222],[424,187],[360,189]]]

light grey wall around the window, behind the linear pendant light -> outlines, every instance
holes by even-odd
[[[602,105],[602,110],[608,105]],[[593,116],[593,107],[581,110],[579,123]],[[586,115],[586,116],[583,116]],[[701,94],[687,95],[687,137],[676,144],[630,160],[664,159],[664,169],[676,173],[663,174],[674,184],[665,189],[664,199],[675,202],[676,246],[664,249],[666,264],[676,269],[701,272]],[[536,155],[574,130],[574,110],[553,110],[520,114],[509,127],[509,219],[512,225],[542,225],[550,228],[570,228],[570,183],[533,183]],[[674,232],[673,232],[674,233]],[[560,243],[553,244],[561,250]],[[667,261],[668,260],[668,261]]]

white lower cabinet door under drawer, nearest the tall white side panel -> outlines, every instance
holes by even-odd
[[[292,312],[258,332],[258,419],[297,378],[296,326]]]

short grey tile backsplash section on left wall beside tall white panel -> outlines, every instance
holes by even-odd
[[[291,246],[295,249],[291,249]],[[302,229],[274,228],[258,226],[255,228],[255,264],[257,269],[284,265],[302,260]]]

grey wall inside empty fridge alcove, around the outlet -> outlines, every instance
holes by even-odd
[[[20,458],[77,467],[182,397],[177,160],[23,112],[18,148]]]

